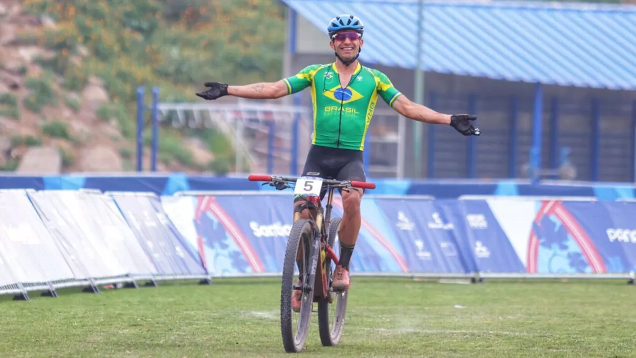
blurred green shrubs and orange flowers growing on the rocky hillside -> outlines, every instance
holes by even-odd
[[[140,85],[146,87],[147,104],[153,85],[160,87],[160,101],[196,101],[194,93],[204,88],[206,80],[275,81],[282,73],[286,35],[285,8],[280,1],[25,0],[22,6],[25,13],[46,15],[57,24],[54,31],[22,35],[23,41],[54,51],[52,57],[38,59],[38,64],[47,73],[61,76],[61,87],[69,91],[81,91],[90,76],[103,80],[111,101],[97,115],[104,120],[116,118],[131,143]],[[77,61],[79,55],[85,59]],[[29,84],[44,89],[25,100],[29,110],[38,112],[43,104],[57,101],[45,77],[29,81],[45,82]],[[78,105],[73,99],[64,100],[68,106]],[[9,114],[19,116],[15,110]],[[203,167],[193,162],[191,153],[179,144],[183,136],[192,134],[207,142],[214,162]],[[149,133],[146,138],[149,145]],[[166,124],[161,132],[160,161],[177,161],[195,170],[225,171],[234,153],[223,143],[214,129],[189,131]],[[128,145],[122,150],[130,160],[128,152],[133,148]]]

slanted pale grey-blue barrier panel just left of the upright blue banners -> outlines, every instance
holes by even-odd
[[[117,193],[111,196],[159,275],[206,275],[200,257],[173,229],[163,210],[158,210],[160,204],[153,203],[158,203],[158,197]]]

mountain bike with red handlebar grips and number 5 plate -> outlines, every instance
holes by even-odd
[[[265,182],[263,185],[272,185],[277,190],[293,187],[294,194],[306,197],[305,203],[294,210],[294,223],[289,233],[282,269],[280,332],[285,351],[297,353],[305,347],[314,303],[318,304],[318,328],[322,345],[338,345],[345,324],[348,292],[338,292],[331,287],[333,270],[338,264],[338,256],[333,247],[341,221],[340,217],[331,220],[333,192],[335,189],[347,188],[375,189],[375,184],[329,180],[320,178],[318,173],[307,173],[307,176],[249,175],[249,180]],[[326,190],[327,194],[327,204],[324,207],[320,199],[321,190]],[[301,218],[303,210],[309,211],[309,218]],[[297,260],[301,262],[304,275],[299,274],[298,282],[294,282]],[[294,325],[291,301],[293,293],[298,290],[302,292],[300,317]],[[335,317],[329,317],[331,304],[335,304],[335,308],[331,309]]]

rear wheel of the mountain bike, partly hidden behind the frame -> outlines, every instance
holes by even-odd
[[[327,243],[330,247],[334,247],[336,234],[340,230],[341,218],[333,218],[329,224],[329,240]],[[345,315],[347,313],[347,299],[349,291],[334,292],[331,289],[333,282],[333,268],[331,267],[331,259],[326,259],[325,267],[327,269],[327,282],[329,285],[329,295],[333,298],[332,303],[322,301],[318,303],[318,329],[320,331],[320,340],[324,346],[336,346],[342,338],[342,331],[345,326]],[[330,314],[329,310],[331,310]]]

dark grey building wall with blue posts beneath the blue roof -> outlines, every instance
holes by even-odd
[[[302,17],[297,18],[296,54],[291,56],[289,71],[296,73],[309,64],[335,61],[329,39],[319,29]],[[413,98],[415,75],[413,70],[391,68],[364,62],[377,68],[392,80],[404,95]],[[466,178],[470,176],[469,146],[474,143],[475,178],[525,177],[524,164],[529,161],[532,142],[532,118],[534,108],[533,83],[490,80],[471,76],[443,73],[425,73],[426,104],[445,113],[475,112],[477,124],[483,130],[478,138],[466,138],[450,127],[424,125],[422,170],[413,172],[413,165],[405,165],[407,177]],[[308,91],[303,93],[303,103],[310,105]],[[598,131],[593,130],[593,99],[598,99]],[[472,101],[472,102],[471,102]],[[516,101],[517,111],[513,111]],[[570,161],[577,169],[577,179],[593,180],[593,162],[598,162],[597,179],[628,182],[633,178],[636,114],[636,91],[581,89],[557,85],[544,86],[542,166],[551,168],[560,162],[560,148],[570,149]],[[385,103],[379,103],[377,111],[387,111]],[[555,111],[556,110],[556,111]],[[516,115],[515,115],[516,113]],[[513,118],[517,118],[516,131],[511,131]],[[374,118],[375,120],[375,118]],[[383,122],[384,125],[385,122]],[[373,125],[372,125],[373,127]],[[434,127],[429,138],[426,127]],[[556,136],[553,135],[556,129]],[[373,130],[373,128],[372,128]],[[380,131],[382,129],[379,129]],[[597,154],[593,146],[594,134],[598,136]],[[407,121],[405,163],[413,163],[413,121]],[[432,138],[432,146],[429,147]],[[382,159],[397,157],[396,149],[376,148]],[[432,149],[429,168],[427,158]],[[373,152],[373,148],[371,149]],[[513,154],[514,153],[514,154]],[[373,161],[374,155],[372,155]],[[379,158],[379,157],[377,157]],[[429,171],[429,169],[432,169]]]

